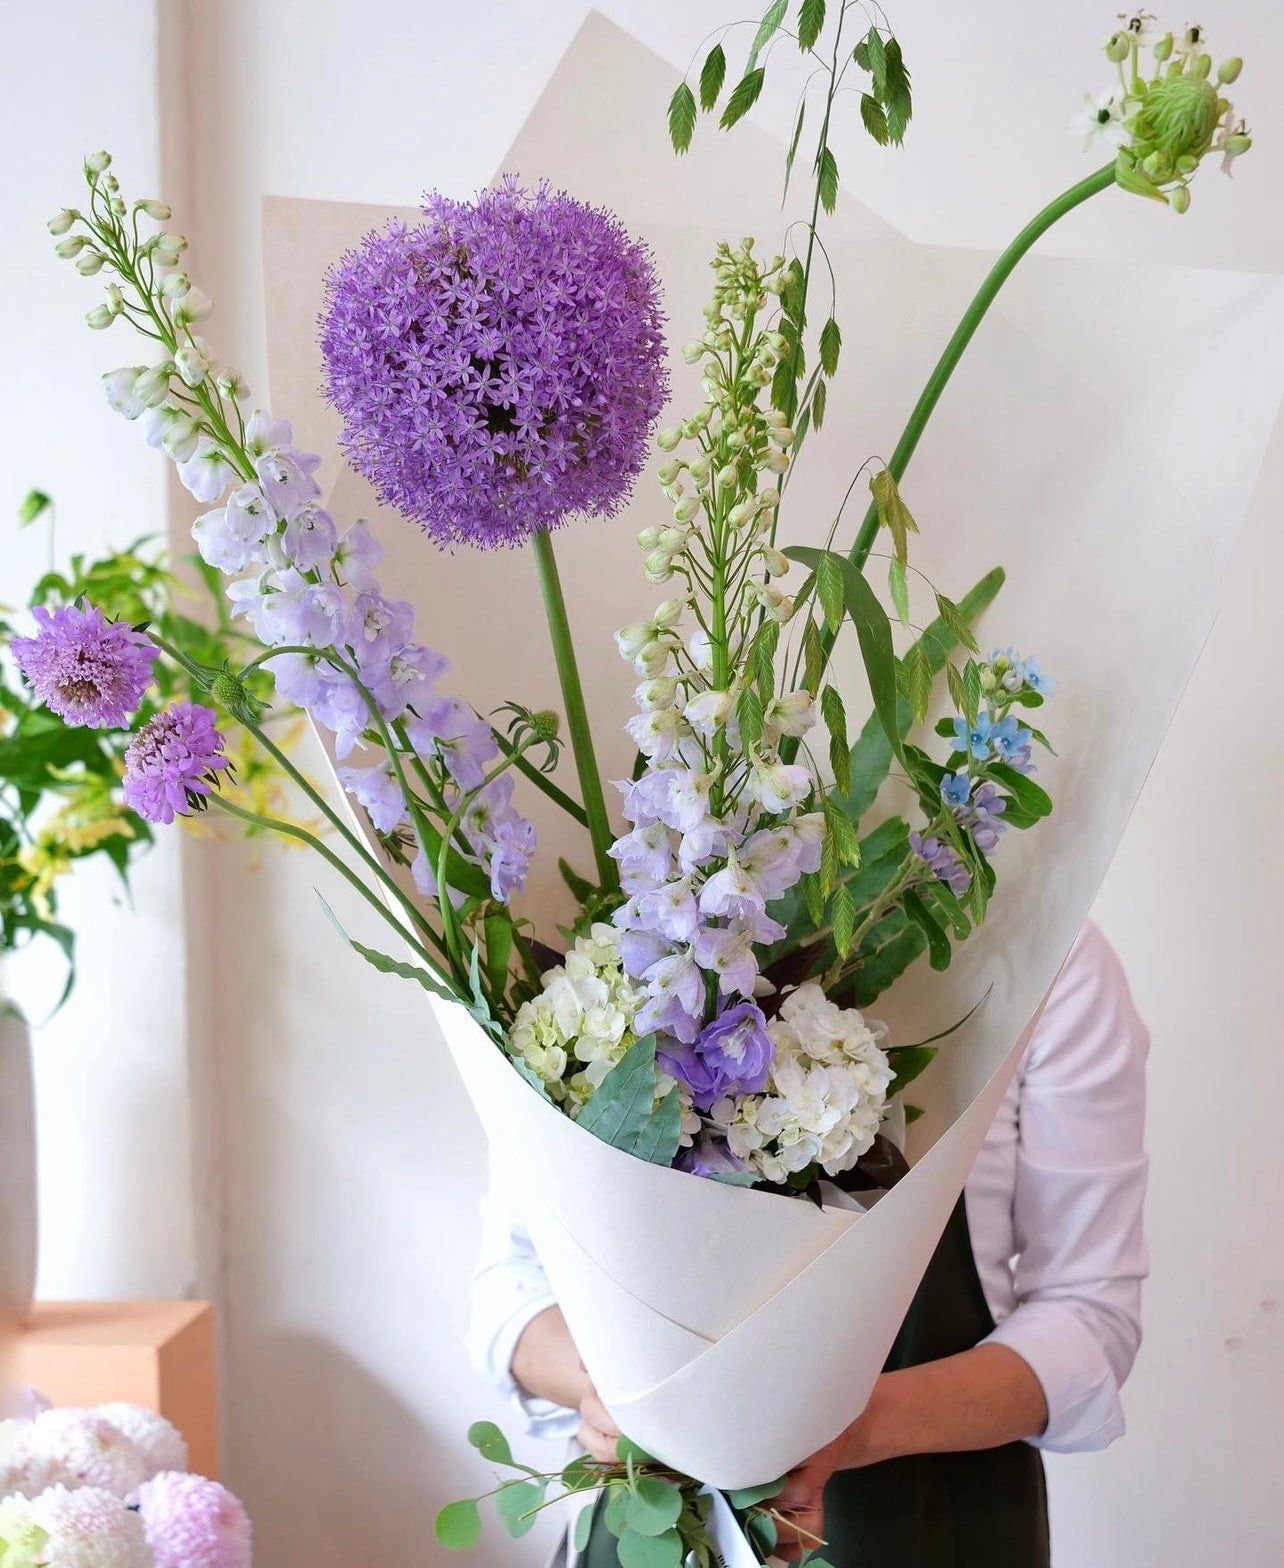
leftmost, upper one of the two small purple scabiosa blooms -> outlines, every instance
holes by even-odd
[[[152,684],[155,646],[92,604],[33,613],[36,635],[11,648],[36,696],[69,724],[124,729]]]

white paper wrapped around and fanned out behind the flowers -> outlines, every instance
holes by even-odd
[[[699,334],[713,241],[754,234],[770,254],[782,248],[785,218],[776,199],[784,149],[754,129],[720,136],[702,122],[691,154],[673,158],[663,111],[674,80],[668,64],[593,16],[503,166],[610,205],[651,241],[666,285],[677,417],[699,401],[676,350]],[[423,171],[425,185],[448,179],[447,155]],[[441,555],[337,459],[339,425],[318,395],[321,278],[387,216],[268,201],[273,411],[295,420],[299,445],[325,453],[336,517],[372,519],[386,591],[414,602],[419,635],[453,660],[442,690],[483,712],[505,698],[560,707],[530,555]],[[1155,221],[1173,220],[1155,207]],[[975,252],[911,245],[850,193],[825,234],[843,364],[825,431],[809,437],[789,491],[785,543],[822,543],[851,474],[892,450],[988,265]],[[864,1406],[1212,624],[1221,564],[1284,392],[1284,370],[1259,353],[1281,329],[1275,278],[1027,260],[911,464],[903,488],[923,530],[912,561],[952,597],[991,566],[1007,568],[980,638],[1036,652],[1055,674],[1044,728],[1060,754],[1039,759],[1054,817],[1032,834],[1007,834],[997,851],[999,897],[985,930],[947,974],[923,963],[880,1002],[894,1036],[911,1041],[992,986],[914,1085],[928,1110],[916,1127],[920,1157],[869,1214],[632,1160],[541,1102],[461,1008],[433,1005],[497,1159],[513,1171],[585,1364],[621,1427],[668,1463],[718,1486],[762,1482]],[[1231,365],[1234,403],[1221,397]],[[859,485],[840,543],[864,500]],[[618,519],[557,535],[611,778],[632,762],[622,724],[637,679],[611,630],[663,597],[641,575],[633,536],[665,513],[649,472]],[[883,577],[878,561],[872,575]],[[919,593],[916,619],[930,615],[930,594]],[[867,696],[853,648],[840,648],[854,731]],[[541,856],[520,908],[547,935],[568,909],[557,856],[589,862],[574,825],[533,792],[524,804],[539,825]],[[898,804],[892,782],[884,806]],[[425,1051],[436,1046],[426,1029]]]

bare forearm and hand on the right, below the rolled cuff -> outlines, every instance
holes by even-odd
[[[956,1356],[884,1372],[864,1413],[828,1447],[793,1471],[773,1507],[796,1527],[781,1526],[779,1555],[801,1557],[825,1535],[822,1499],[829,1477],[906,1454],[996,1449],[1043,1432],[1047,1402],[1030,1364],[1007,1345],[977,1345]]]

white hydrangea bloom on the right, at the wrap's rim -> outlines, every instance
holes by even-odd
[[[883,1120],[886,1030],[814,982],[792,991],[767,1027],[776,1047],[767,1090],[718,1101],[710,1120],[738,1160],[778,1185],[809,1165],[826,1176],[850,1170]]]

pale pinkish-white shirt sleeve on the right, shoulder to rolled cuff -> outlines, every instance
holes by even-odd
[[[1016,1309],[989,1336],[1047,1399],[1035,1444],[1104,1449],[1141,1342],[1148,1272],[1146,1027],[1113,949],[1085,927],[1022,1063],[1013,1229]]]

